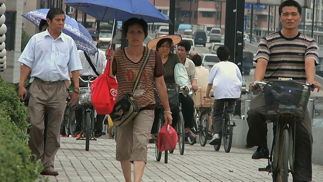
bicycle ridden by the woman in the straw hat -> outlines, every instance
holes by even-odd
[[[184,128],[184,117],[183,117],[183,113],[182,113],[182,104],[181,104],[179,94],[185,94],[185,91],[183,90],[184,88],[180,88],[180,86],[178,84],[166,83],[166,86],[167,86],[167,93],[169,95],[170,105],[172,105],[172,103],[176,103],[174,107],[179,108],[178,121],[177,121],[175,130],[178,135],[178,146],[179,146],[180,154],[184,155],[185,128]],[[157,96],[156,92],[155,92],[155,96]],[[170,98],[170,96],[172,96],[172,98]],[[158,97],[155,97],[156,103],[160,103],[160,101],[157,102],[158,101],[157,98]],[[176,102],[173,102],[173,100],[176,100]],[[159,104],[156,104],[156,105],[159,106]],[[161,113],[162,113],[161,115],[163,115],[162,117],[164,118],[164,112],[161,112]],[[159,118],[159,121],[160,121],[160,118]],[[161,128],[161,127],[159,128],[159,121],[158,121],[158,132]],[[163,125],[161,125],[161,126],[163,126]],[[155,141],[157,141],[157,140],[155,140]],[[155,142],[155,144],[158,145],[157,142]],[[158,146],[156,146],[155,150],[158,151]],[[171,154],[173,154],[173,152],[174,152],[174,150],[169,151],[169,153],[171,153]],[[157,152],[155,152],[155,153],[156,153],[156,159],[157,159]],[[161,155],[161,154],[158,153],[158,155]]]

